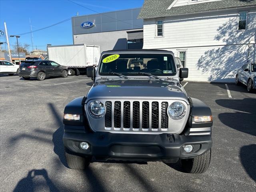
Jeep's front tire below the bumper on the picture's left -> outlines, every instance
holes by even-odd
[[[90,164],[90,158],[70,154],[65,151],[66,162],[70,169],[86,169]]]

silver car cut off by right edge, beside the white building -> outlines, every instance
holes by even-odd
[[[247,63],[238,69],[236,74],[236,85],[245,84],[250,92],[256,89],[256,64]]]

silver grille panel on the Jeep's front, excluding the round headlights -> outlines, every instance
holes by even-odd
[[[90,112],[89,107],[94,100],[86,103],[86,113],[90,128],[95,132],[180,133],[186,125],[190,110],[184,100],[97,99],[106,107],[105,114],[97,117]],[[175,101],[180,101],[185,106],[186,115],[181,120],[174,120],[168,116],[168,106]]]

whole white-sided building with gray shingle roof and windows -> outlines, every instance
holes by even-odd
[[[145,0],[144,49],[174,52],[188,80],[231,82],[256,57],[256,0]]]

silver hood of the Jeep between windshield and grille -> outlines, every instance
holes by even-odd
[[[182,99],[188,102],[184,88],[176,81],[162,80],[104,80],[96,82],[87,94],[87,100],[97,98],[155,98]]]

